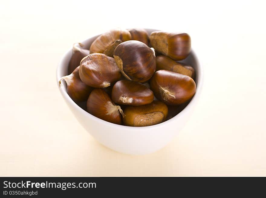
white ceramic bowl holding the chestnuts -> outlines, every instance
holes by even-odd
[[[153,29],[146,30],[149,34],[156,31]],[[98,36],[87,39],[82,43],[89,47]],[[69,49],[57,67],[57,85],[59,79],[67,75],[67,67],[71,55],[72,49]],[[128,127],[101,120],[73,102],[66,92],[65,83],[59,87],[59,90],[79,123],[100,143],[118,152],[135,155],[147,154],[163,148],[178,134],[191,115],[193,107],[200,96],[203,74],[195,53],[192,51],[182,62],[190,64],[196,71],[196,93],[190,103],[174,118],[153,126]]]

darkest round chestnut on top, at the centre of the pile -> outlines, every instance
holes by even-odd
[[[148,81],[156,69],[154,49],[140,41],[122,42],[115,48],[114,58],[122,74],[139,83]]]

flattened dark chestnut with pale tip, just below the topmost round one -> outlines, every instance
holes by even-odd
[[[112,101],[120,105],[146,105],[153,99],[154,94],[149,88],[134,81],[120,80],[112,89]]]

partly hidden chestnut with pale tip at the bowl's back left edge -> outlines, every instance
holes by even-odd
[[[77,44],[80,46],[77,46]],[[82,43],[74,43],[72,48],[72,57],[68,64],[68,74],[71,74],[78,66],[82,58],[89,55],[89,50],[82,49]]]

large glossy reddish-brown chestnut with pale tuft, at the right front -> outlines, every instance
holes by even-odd
[[[196,92],[196,83],[186,75],[173,71],[156,71],[150,82],[155,97],[167,105],[187,102]]]

